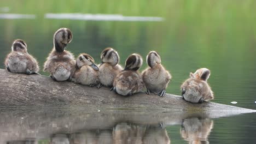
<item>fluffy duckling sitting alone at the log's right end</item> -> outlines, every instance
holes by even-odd
[[[182,98],[191,103],[214,99],[211,87],[207,83],[209,77],[210,70],[207,68],[198,69],[194,74],[190,73],[190,78],[181,86]]]

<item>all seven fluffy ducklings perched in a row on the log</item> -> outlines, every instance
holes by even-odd
[[[119,65],[119,55],[108,47],[101,52],[101,64],[95,64],[88,53],[81,53],[75,61],[71,52],[65,50],[72,41],[72,32],[60,28],[54,34],[54,47],[44,63],[44,71],[50,73],[55,81],[73,81],[82,85],[111,87],[120,95],[132,95],[147,88],[147,94],[155,93],[163,97],[170,82],[171,74],[161,65],[161,58],[156,51],[147,55],[148,68],[142,74],[138,69],[143,60],[133,53],[125,61],[125,68]],[[11,52],[5,58],[5,67],[12,73],[38,74],[37,60],[27,53],[25,41],[17,39],[11,46]],[[190,73],[190,78],[181,86],[182,98],[192,103],[202,103],[213,99],[213,92],[207,83],[210,70],[201,68]]]

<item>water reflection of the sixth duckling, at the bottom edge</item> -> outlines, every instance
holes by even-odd
[[[162,124],[149,125],[143,137],[143,143],[147,144],[170,144],[171,140]]]

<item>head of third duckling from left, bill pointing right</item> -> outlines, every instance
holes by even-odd
[[[94,58],[87,53],[81,53],[77,58],[77,68],[81,68],[83,65],[90,65],[93,69],[98,70],[97,65],[94,63]]]

